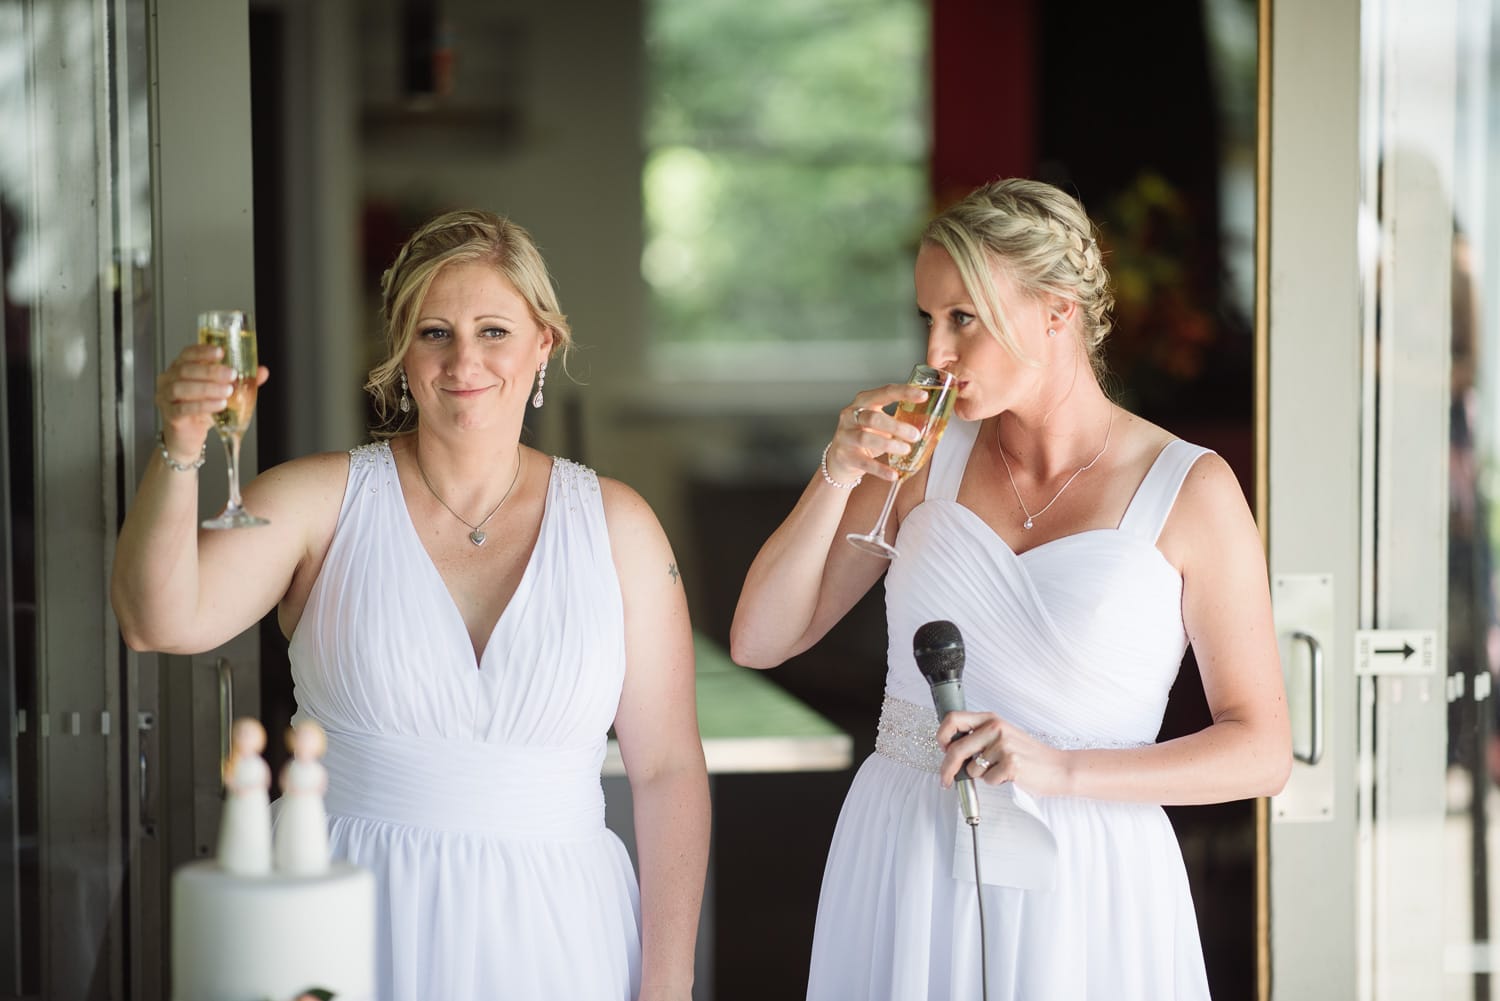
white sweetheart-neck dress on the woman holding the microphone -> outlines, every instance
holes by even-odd
[[[1016,555],[956,501],[978,426],[950,425],[885,579],[886,699],[824,873],[807,992],[816,1001],[981,998],[969,830],[934,774],[938,716],[912,657],[920,626],[946,618],[963,632],[970,710],[1070,749],[1155,741],[1186,650],[1182,579],[1155,542],[1206,450],[1180,440],[1162,449],[1118,528]],[[1011,789],[981,783],[981,830]],[[1022,857],[1008,873],[981,852],[990,1001],[1208,998],[1182,852],[1161,807],[1064,797],[1035,806],[1056,839],[1054,863]],[[1017,888],[1030,876],[1047,885]]]

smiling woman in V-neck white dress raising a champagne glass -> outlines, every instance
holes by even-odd
[[[268,524],[196,530],[219,348],[160,377],[114,567],[126,641],[195,653],[276,609],[296,720],[327,734],[333,852],[376,875],[382,1001],[687,1001],[708,782],[670,546],[627,486],[520,443],[572,342],[525,230],[440,216],[381,285],[382,432],[249,483]],[[610,726],[639,890],[604,827]]]

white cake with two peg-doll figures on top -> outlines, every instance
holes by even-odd
[[[218,858],[172,875],[174,1001],[375,996],[375,878],[328,861],[322,731],[298,723],[272,858],[270,782],[255,720],[234,728]],[[274,864],[273,864],[274,863]],[[315,993],[316,992],[316,993]]]

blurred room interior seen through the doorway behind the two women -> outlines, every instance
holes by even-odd
[[[1220,450],[1250,492],[1252,2],[338,6],[250,3],[255,300],[276,372],[262,465],[363,440],[378,278],[412,227],[508,215],[584,345],[548,383],[536,444],[642,492],[698,630],[726,648],[744,570],[837,411],[924,353],[921,225],[1020,174],[1101,225],[1116,395]],[[714,779],[717,998],[806,986],[822,860],[874,741],[882,600],[768,675],[852,738],[850,765]],[[261,657],[276,732],[292,704],[270,620]],[[1167,735],[1204,722],[1190,662]],[[1215,996],[1248,998],[1252,804],[1173,821]]]

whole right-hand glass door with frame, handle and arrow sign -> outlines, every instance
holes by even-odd
[[[1298,755],[1269,810],[1269,996],[1480,1001],[1500,5],[1306,6],[1274,5],[1266,116],[1268,534]]]

